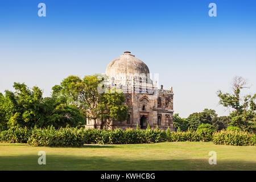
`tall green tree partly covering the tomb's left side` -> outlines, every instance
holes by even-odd
[[[101,120],[101,129],[114,120],[125,121],[128,116],[128,107],[123,104],[125,96],[115,88],[104,88],[102,82],[101,75],[85,76],[83,79],[68,76],[60,85],[53,86],[52,96],[67,98],[68,103],[79,109],[84,117],[93,119],[95,129],[97,119]]]

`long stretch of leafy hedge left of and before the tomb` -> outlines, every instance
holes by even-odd
[[[33,129],[12,127],[0,134],[2,142],[28,143],[31,146],[72,146],[83,144],[133,144],[166,141],[166,132],[160,130],[97,130],[65,127]]]

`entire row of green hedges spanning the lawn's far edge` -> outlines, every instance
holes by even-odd
[[[97,130],[60,128],[27,129],[12,128],[2,131],[0,140],[3,142],[28,143],[31,146],[82,146],[83,144],[134,144],[157,142],[199,142],[210,141],[214,144],[256,145],[255,134],[237,131],[221,131],[213,133],[207,130],[170,132],[160,130]]]

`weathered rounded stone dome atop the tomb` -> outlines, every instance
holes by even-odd
[[[128,51],[111,61],[106,67],[106,75],[109,78],[127,76],[147,77],[149,73],[147,65]]]

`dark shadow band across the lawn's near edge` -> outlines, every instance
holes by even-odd
[[[0,156],[0,170],[256,170],[256,163],[245,160],[218,160],[210,165],[205,159],[129,159],[115,156],[46,155],[46,165],[37,155]]]

